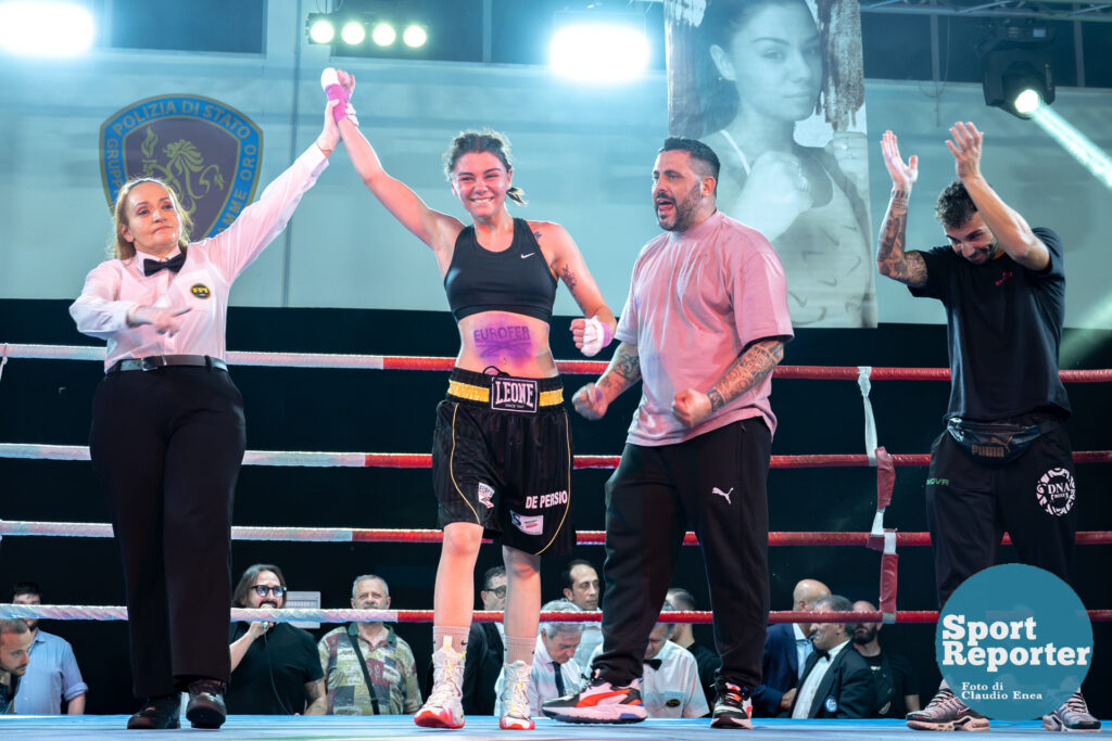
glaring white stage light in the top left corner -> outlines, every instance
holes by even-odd
[[[70,2],[0,3],[0,49],[26,57],[79,57],[96,38],[86,8]]]

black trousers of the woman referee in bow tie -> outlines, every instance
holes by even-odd
[[[90,450],[127,587],[136,697],[230,674],[231,502],[246,448],[244,400],[226,371],[109,373]]]

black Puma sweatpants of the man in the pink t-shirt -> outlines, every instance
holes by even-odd
[[[604,681],[642,675],[648,634],[672,585],[688,521],[711,584],[718,675],[761,683],[768,621],[768,474],[772,433],[746,419],[672,445],[626,444],[606,483]]]

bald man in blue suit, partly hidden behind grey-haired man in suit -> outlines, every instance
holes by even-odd
[[[792,590],[792,609],[811,610],[815,600],[828,597],[830,588],[815,579],[803,579]],[[753,691],[753,714],[775,718],[792,708],[795,687],[811,655],[811,623],[775,623],[765,633],[762,684]]]

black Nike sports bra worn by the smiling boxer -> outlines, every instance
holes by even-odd
[[[552,321],[556,300],[556,279],[525,219],[514,219],[514,241],[502,252],[484,249],[474,226],[459,232],[444,289],[456,321],[480,311]]]

